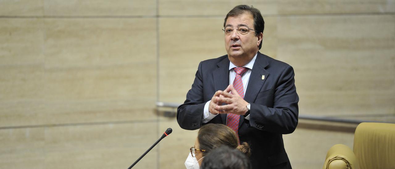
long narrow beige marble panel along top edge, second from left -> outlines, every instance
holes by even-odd
[[[45,0],[46,16],[138,16],[156,15],[156,1],[145,0]]]

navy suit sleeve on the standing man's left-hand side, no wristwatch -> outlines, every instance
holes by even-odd
[[[202,62],[199,63],[192,88],[186,94],[186,100],[177,109],[177,122],[185,130],[196,130],[201,126],[203,109]]]

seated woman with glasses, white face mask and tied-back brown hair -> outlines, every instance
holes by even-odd
[[[185,161],[187,169],[199,169],[204,156],[214,148],[222,145],[237,148],[246,156],[250,156],[248,143],[241,143],[235,131],[224,124],[206,124],[199,129],[195,145],[190,148],[190,153]]]

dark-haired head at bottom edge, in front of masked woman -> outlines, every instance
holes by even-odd
[[[251,169],[251,163],[239,150],[220,146],[205,156],[200,169]]]

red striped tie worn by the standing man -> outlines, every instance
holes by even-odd
[[[243,81],[241,80],[241,75],[247,71],[248,68],[245,67],[238,67],[233,68],[236,72],[235,80],[233,81],[233,87],[237,91],[237,93],[244,99],[244,88],[243,88]],[[226,115],[226,126],[230,127],[236,132],[237,139],[239,139],[239,119],[240,115],[235,115],[228,113]],[[240,143],[240,139],[239,139]]]

